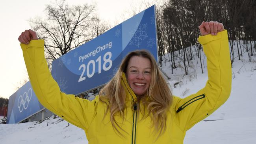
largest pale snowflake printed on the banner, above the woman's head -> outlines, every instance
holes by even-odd
[[[135,45],[139,48],[139,46],[141,45],[141,42],[148,37],[146,30],[147,30],[147,24],[139,25],[129,45]],[[134,30],[132,30],[132,32],[134,32]],[[132,34],[132,32],[130,32],[130,34]]]

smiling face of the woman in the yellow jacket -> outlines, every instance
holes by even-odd
[[[126,75],[129,86],[136,96],[145,94],[151,79],[151,63],[144,57],[133,56],[128,62]]]

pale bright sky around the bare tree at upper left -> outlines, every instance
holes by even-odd
[[[156,4],[154,0],[66,0],[70,5],[96,4],[96,14],[111,26]],[[5,0],[0,5],[0,97],[9,98],[19,83],[26,79],[27,70],[18,37],[30,29],[28,20],[44,17],[46,4],[55,0]]]

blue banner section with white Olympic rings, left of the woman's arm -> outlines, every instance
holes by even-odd
[[[7,124],[17,124],[44,108],[28,81],[9,98]]]

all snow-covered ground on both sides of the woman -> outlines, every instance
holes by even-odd
[[[236,46],[234,47],[236,56]],[[244,51],[244,50],[243,50]],[[255,51],[255,50],[254,50]],[[167,55],[166,55],[167,58]],[[189,74],[184,76],[179,66],[171,74],[169,62],[162,69],[171,76],[173,94],[188,96],[204,87],[207,81],[206,57],[202,53],[204,74],[200,62],[190,61]],[[255,144],[256,142],[256,55],[249,62],[245,52],[241,60],[236,57],[232,68],[230,98],[215,113],[187,131],[184,144]],[[181,81],[176,88],[173,84]],[[82,129],[57,117],[43,122],[0,124],[0,144],[86,144]]]

